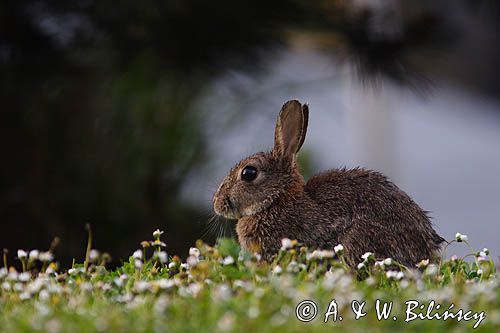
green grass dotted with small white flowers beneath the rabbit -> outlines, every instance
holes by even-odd
[[[154,246],[142,243],[146,247],[115,270],[106,269],[96,252],[87,251],[86,262],[66,272],[20,253],[26,273],[0,271],[0,332],[500,332],[500,283],[486,253],[473,252],[471,262],[452,258],[418,269],[382,265],[369,256],[364,267],[349,269],[340,253],[331,258],[332,251],[312,253],[296,242],[284,243],[287,248],[265,263],[224,239],[215,247],[198,242],[186,264],[157,255],[160,234],[155,238]],[[393,302],[387,320],[377,319],[377,299]],[[310,322],[296,317],[304,300],[318,309]],[[332,315],[325,323],[332,300],[337,320]],[[431,315],[453,303],[451,311],[470,310],[470,320],[405,322],[405,302],[411,300],[440,304]],[[366,302],[366,315],[358,320],[353,301]],[[302,307],[299,312],[307,314]],[[479,317],[472,314],[481,312],[485,318],[473,329]]]

